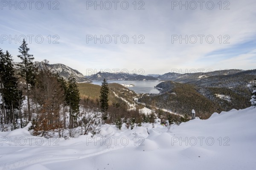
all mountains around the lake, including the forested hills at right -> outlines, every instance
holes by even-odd
[[[14,63],[15,64],[15,63]],[[35,62],[38,68],[41,62]],[[185,114],[192,109],[198,116],[207,118],[213,112],[229,111],[250,106],[250,96],[253,90],[255,70],[222,70],[207,73],[166,73],[163,75],[137,75],[126,73],[102,73],[85,77],[79,71],[63,64],[47,64],[53,73],[58,73],[64,79],[71,75],[77,82],[92,82],[96,80],[159,80],[156,88],[160,94],[143,95],[138,102],[148,108],[162,108],[173,113]]]

